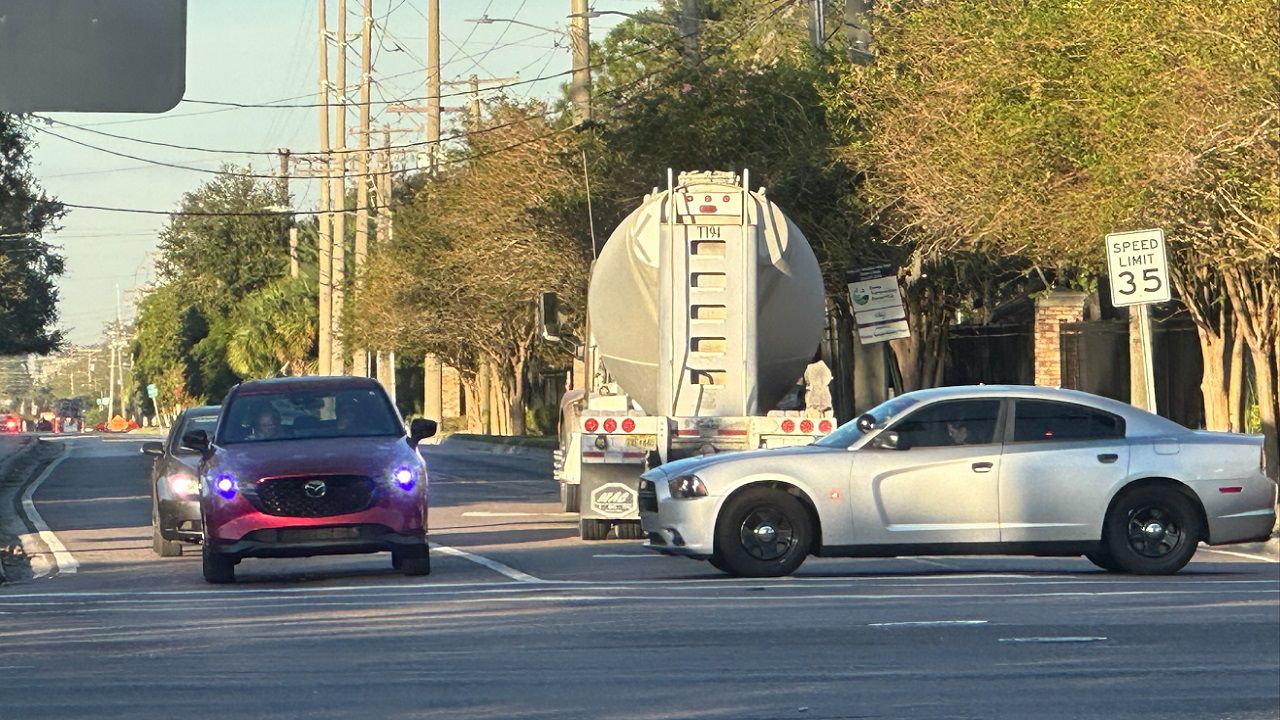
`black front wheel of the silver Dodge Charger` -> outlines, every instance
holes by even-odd
[[[742,578],[790,575],[812,544],[809,512],[780,489],[754,488],[733,496],[716,523],[716,553],[727,573]]]

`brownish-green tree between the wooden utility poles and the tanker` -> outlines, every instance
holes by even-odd
[[[585,213],[563,211],[582,192],[581,160],[544,111],[495,105],[457,151],[468,161],[397,210],[347,327],[374,350],[439,355],[472,393],[492,374],[517,434],[538,348],[532,301],[547,291],[580,301],[590,252]]]

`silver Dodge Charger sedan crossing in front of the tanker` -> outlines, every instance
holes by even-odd
[[[1265,539],[1262,438],[1189,430],[1069,389],[895,397],[814,445],[690,457],[640,479],[646,547],[741,577],[810,555],[1083,555],[1176,573],[1197,544]]]

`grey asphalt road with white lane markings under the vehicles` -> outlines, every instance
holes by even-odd
[[[810,559],[781,580],[582,543],[545,456],[428,451],[433,574],[150,550],[134,438],[76,438],[0,585],[0,717],[1280,717],[1280,565]],[[47,536],[46,536],[47,539]],[[47,543],[46,543],[47,544]],[[74,570],[74,571],[70,571]]]

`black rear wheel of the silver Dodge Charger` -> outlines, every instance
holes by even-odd
[[[1185,495],[1152,486],[1125,492],[1102,533],[1107,555],[1120,569],[1138,575],[1181,570],[1203,536],[1199,514]]]

